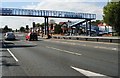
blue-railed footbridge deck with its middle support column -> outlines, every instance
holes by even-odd
[[[17,8],[1,8],[1,16],[27,16],[27,17],[44,17],[45,18],[45,35],[49,34],[48,18],[67,18],[67,19],[85,19],[86,23],[96,19],[96,14],[75,13],[52,10],[33,10]],[[87,25],[87,24],[86,24]]]

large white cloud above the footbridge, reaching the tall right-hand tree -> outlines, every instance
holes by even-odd
[[[45,0],[37,5],[23,6],[24,9],[36,9],[36,10],[57,10],[57,11],[69,11],[80,13],[92,13],[97,14],[97,19],[102,19],[103,7],[95,5],[93,2],[50,2]]]

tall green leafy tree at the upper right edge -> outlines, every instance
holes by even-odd
[[[120,36],[120,1],[119,2],[109,2],[103,8],[103,19],[104,22],[113,26],[113,29],[118,32]]]

